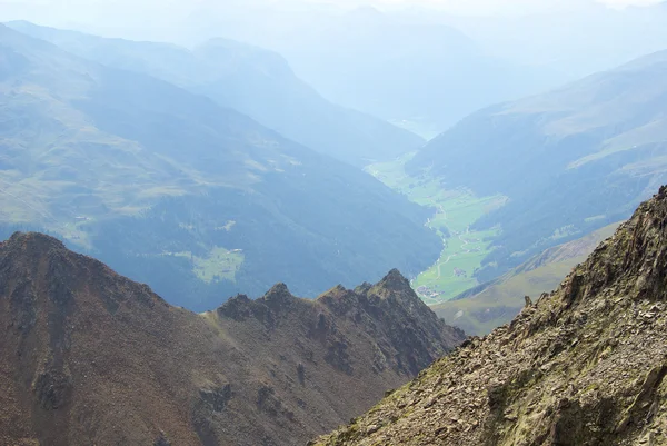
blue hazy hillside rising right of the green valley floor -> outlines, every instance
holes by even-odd
[[[411,175],[428,171],[447,189],[509,197],[474,226],[502,229],[481,281],[628,218],[667,180],[666,75],[667,52],[659,52],[480,110],[407,163]]]

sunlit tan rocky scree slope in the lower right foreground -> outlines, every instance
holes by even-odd
[[[317,445],[667,444],[667,188],[508,326]]]

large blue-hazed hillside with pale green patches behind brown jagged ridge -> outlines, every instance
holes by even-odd
[[[0,235],[49,231],[205,310],[412,275],[428,210],[213,101],[0,26]],[[400,235],[400,237],[397,237]],[[391,242],[387,242],[391,240]]]

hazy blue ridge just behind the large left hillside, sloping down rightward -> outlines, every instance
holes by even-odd
[[[29,22],[8,26],[86,59],[150,75],[207,96],[293,141],[355,166],[390,159],[425,142],[407,130],[325,100],[298,79],[279,54],[257,47],[213,39],[188,50]]]

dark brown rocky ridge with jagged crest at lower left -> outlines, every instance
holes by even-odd
[[[305,444],[461,340],[396,270],[196,315],[16,234],[0,244],[0,444]]]

